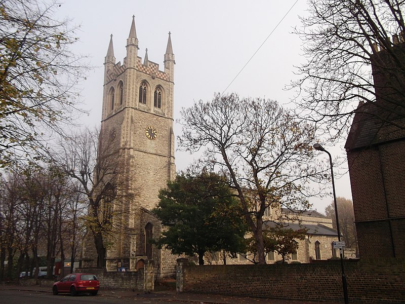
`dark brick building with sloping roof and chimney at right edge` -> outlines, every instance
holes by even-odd
[[[374,50],[376,99],[359,104],[346,141],[361,257],[405,257],[405,46]]]

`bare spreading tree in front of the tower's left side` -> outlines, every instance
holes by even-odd
[[[133,214],[130,202],[137,194],[117,140],[86,129],[63,139],[56,157],[88,199],[86,226],[94,238],[98,267],[105,267],[106,246],[125,237],[122,232]]]

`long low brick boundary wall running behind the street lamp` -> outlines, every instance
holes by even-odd
[[[343,302],[340,260],[309,264],[190,265],[185,292]],[[405,303],[405,259],[346,260],[350,302]]]

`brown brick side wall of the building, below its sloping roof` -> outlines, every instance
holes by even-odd
[[[360,257],[405,257],[405,130],[399,135],[347,154]]]

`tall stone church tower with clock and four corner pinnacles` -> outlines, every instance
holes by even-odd
[[[126,180],[135,189],[136,198],[128,202],[129,210],[134,212],[123,224],[126,237],[115,240],[107,248],[107,271],[116,271],[117,265],[131,271],[141,259],[161,258],[161,252],[152,248],[150,242],[152,237],[161,233],[161,224],[150,210],[158,203],[159,190],[175,178],[176,171],[173,132],[175,60],[171,33],[164,55],[164,70],[149,61],[147,49],[143,62],[138,56],[134,16],[126,48],[123,63],[115,63],[111,35],[104,60],[101,134],[108,136],[110,143],[113,142],[124,155],[128,170]],[[84,259],[91,259],[90,254],[86,256],[86,250],[84,255]],[[93,261],[88,266],[90,264],[95,263]]]

